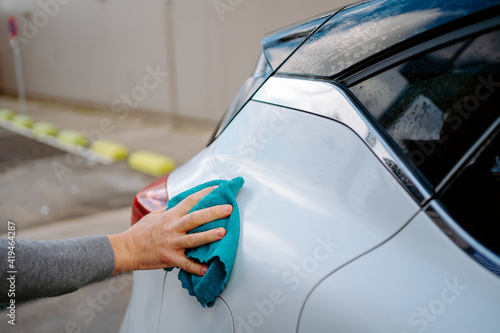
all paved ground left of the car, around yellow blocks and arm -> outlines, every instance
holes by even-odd
[[[17,101],[0,96],[0,108],[16,110]],[[28,114],[60,129],[86,131],[91,140],[105,138],[123,143],[131,151],[147,149],[172,156],[179,165],[203,149],[211,133],[209,128],[120,118],[111,112],[47,102],[28,101]],[[102,119],[111,119],[112,131],[100,128]],[[59,165],[67,167],[62,176],[54,167]],[[125,162],[92,163],[0,129],[1,237],[5,237],[9,219],[16,222],[18,239],[120,232],[130,223],[135,194],[153,180]],[[0,311],[0,332],[117,332],[131,286],[131,274],[125,274],[69,295],[24,303],[17,309],[15,327],[7,324],[5,311]],[[102,302],[92,309],[92,299]]]

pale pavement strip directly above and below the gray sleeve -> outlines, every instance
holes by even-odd
[[[24,229],[17,236],[42,240],[112,234],[126,229],[129,218],[130,208],[125,207]],[[131,288],[132,274],[123,274],[68,295],[21,304],[15,327],[7,323],[6,311],[0,311],[0,332],[117,332]]]

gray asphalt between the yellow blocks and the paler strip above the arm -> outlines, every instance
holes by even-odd
[[[90,163],[0,129],[0,212],[18,230],[129,206],[154,179],[125,162]]]

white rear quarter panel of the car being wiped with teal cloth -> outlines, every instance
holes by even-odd
[[[221,294],[236,331],[294,331],[288,318],[298,317],[321,279],[419,210],[348,127],[266,103],[249,102],[210,147],[170,175],[167,191],[172,197],[236,176],[245,179],[237,196],[240,244]],[[189,297],[175,303],[193,303]]]

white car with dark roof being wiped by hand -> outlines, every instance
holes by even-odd
[[[133,206],[243,177],[227,285],[203,308],[178,269],[135,272],[121,332],[500,332],[499,15],[365,1],[264,38],[206,149]]]

